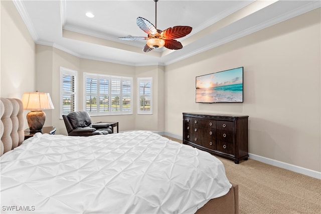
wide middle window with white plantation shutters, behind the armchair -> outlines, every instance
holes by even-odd
[[[132,78],[84,73],[84,109],[90,115],[132,114]]]

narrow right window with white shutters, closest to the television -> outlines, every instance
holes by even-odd
[[[138,114],[152,114],[152,77],[138,78]]]

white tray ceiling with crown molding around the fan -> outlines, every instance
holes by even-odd
[[[125,65],[169,65],[208,49],[320,7],[320,1],[168,1],[157,2],[157,29],[191,26],[178,39],[181,50],[142,51],[146,41],[118,37],[146,34],[142,17],[155,25],[155,3],[144,1],[18,1],[14,3],[37,44],[85,59]],[[87,12],[94,18],[85,16]]]

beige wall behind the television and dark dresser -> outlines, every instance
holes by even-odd
[[[244,103],[195,103],[195,77],[244,67]],[[321,171],[320,10],[166,67],[166,131],[182,112],[249,115],[249,152]]]

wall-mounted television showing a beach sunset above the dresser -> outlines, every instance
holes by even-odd
[[[197,103],[243,103],[243,67],[196,77]]]

